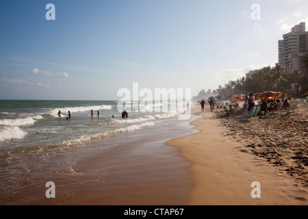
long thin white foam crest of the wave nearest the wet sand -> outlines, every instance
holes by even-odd
[[[66,140],[66,141],[63,142],[63,144],[69,146],[69,145],[72,145],[72,144],[81,144],[81,143],[84,143],[84,142],[88,142],[90,140],[101,140],[103,138],[115,136],[119,133],[134,131],[134,130],[137,130],[137,129],[142,129],[142,127],[147,127],[147,126],[152,126],[152,125],[155,125],[155,123],[140,123],[140,124],[130,125],[128,127],[123,127],[123,128],[118,128],[118,129],[106,131],[105,133],[99,133],[97,135],[81,136],[80,138],[77,138],[77,139],[74,139],[74,140]]]

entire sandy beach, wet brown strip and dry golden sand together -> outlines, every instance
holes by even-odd
[[[216,118],[205,107],[192,109],[198,131],[189,136],[118,146],[79,162],[76,168],[97,170],[98,180],[53,204],[308,204],[304,106],[295,116],[250,120]],[[251,195],[256,181],[260,198]]]

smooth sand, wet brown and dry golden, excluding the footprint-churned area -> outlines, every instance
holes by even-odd
[[[81,160],[75,169],[97,172],[97,181],[80,185],[64,200],[45,204],[308,204],[307,186],[248,151],[247,142],[227,129],[232,118],[215,118],[207,106],[205,112],[192,108],[198,118],[190,122],[190,133],[187,127],[182,130],[182,137],[131,142]],[[261,184],[261,198],[251,196],[255,181]]]

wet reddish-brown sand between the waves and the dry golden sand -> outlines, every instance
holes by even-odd
[[[84,183],[73,196],[47,205],[187,205],[191,163],[177,146],[165,142],[195,131],[189,121],[174,124],[167,127],[173,131],[161,131],[156,138],[146,135],[144,140],[118,144],[77,162],[74,169],[97,172],[97,181]]]

